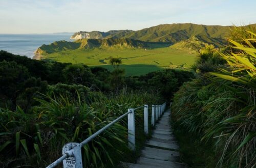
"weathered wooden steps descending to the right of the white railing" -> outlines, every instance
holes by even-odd
[[[185,164],[177,162],[179,160],[179,146],[172,133],[169,119],[170,109],[165,111],[156,124],[152,138],[146,142],[137,163],[123,163],[124,167],[186,167]]]

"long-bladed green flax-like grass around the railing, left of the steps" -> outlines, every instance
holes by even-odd
[[[94,99],[94,100],[92,100]],[[68,142],[81,142],[91,134],[126,113],[127,108],[158,102],[148,93],[127,93],[90,98],[90,103],[65,95],[42,95],[30,113],[17,107],[0,110],[0,164],[2,167],[44,167],[61,156]],[[136,114],[136,124],[143,120]],[[114,167],[117,158],[129,153],[126,119],[114,124],[83,146],[86,167]]]

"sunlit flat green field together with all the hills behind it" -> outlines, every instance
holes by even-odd
[[[77,32],[69,41],[55,41],[40,46],[37,59],[61,63],[86,64],[113,70],[109,58],[120,58],[125,75],[144,75],[156,70],[189,69],[197,50],[205,44],[216,48],[227,45],[232,26],[192,23],[160,24],[139,31]],[[247,25],[255,27],[255,24]]]

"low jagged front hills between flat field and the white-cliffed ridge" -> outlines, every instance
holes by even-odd
[[[148,48],[154,43],[134,39],[79,39],[74,42],[55,41],[49,45],[42,45],[35,54],[53,53],[65,50],[92,49],[92,48]]]

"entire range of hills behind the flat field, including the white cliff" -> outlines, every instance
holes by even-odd
[[[248,25],[247,25],[248,26]],[[256,27],[256,24],[250,26]],[[109,32],[77,32],[71,36],[74,42],[57,41],[40,46],[35,53],[44,54],[63,50],[92,48],[188,48],[195,50],[205,43],[221,47],[232,26],[202,25],[192,23],[160,24],[139,31],[120,30]]]

